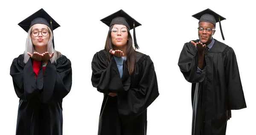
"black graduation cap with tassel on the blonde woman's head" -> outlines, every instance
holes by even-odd
[[[44,9],[40,9],[36,11],[34,14],[30,15],[25,20],[21,21],[18,25],[22,29],[24,29],[26,32],[28,32],[30,27],[33,26],[34,24],[45,24],[49,26],[52,30],[52,34],[53,34],[53,30],[60,26],[55,20],[52,19],[52,17],[49,14],[47,14],[46,11],[44,11]],[[52,45],[54,48],[53,38],[52,38]]]

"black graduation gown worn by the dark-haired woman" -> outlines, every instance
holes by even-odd
[[[114,57],[108,64],[108,52],[101,50],[93,57],[91,81],[104,93],[98,135],[146,135],[147,107],[159,95],[157,76],[148,55],[135,52],[135,56],[134,73],[130,76],[124,63],[122,78]]]

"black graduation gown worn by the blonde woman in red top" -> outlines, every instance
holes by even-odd
[[[71,62],[62,55],[48,61],[35,78],[32,59],[20,55],[12,62],[10,75],[20,98],[16,135],[62,135],[62,99],[72,85]]]

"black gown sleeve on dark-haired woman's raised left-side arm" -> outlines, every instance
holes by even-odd
[[[119,70],[116,66],[114,57],[109,64],[107,54],[104,50],[97,52],[92,60],[92,77],[93,87],[99,92],[108,94],[109,92],[125,92],[129,89],[130,78],[120,78]],[[123,71],[125,72],[125,71]]]

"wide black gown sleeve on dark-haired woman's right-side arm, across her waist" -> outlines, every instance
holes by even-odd
[[[128,70],[127,66],[124,69]],[[141,76],[138,86],[130,86],[128,91],[117,96],[119,117],[123,122],[143,113],[159,96],[154,63],[148,55],[143,55],[137,62],[134,74]]]

